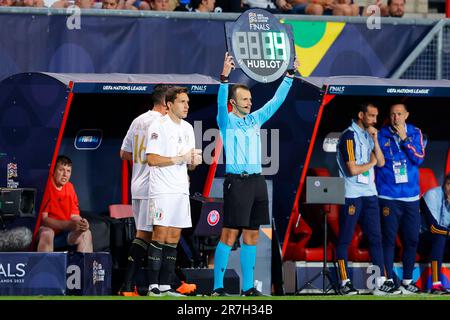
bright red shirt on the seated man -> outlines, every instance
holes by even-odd
[[[78,198],[73,184],[67,182],[61,190],[56,189],[53,181],[49,183],[48,192],[44,194],[42,212],[56,220],[70,220],[72,214],[80,214]]]

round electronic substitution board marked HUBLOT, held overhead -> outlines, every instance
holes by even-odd
[[[235,22],[226,22],[225,33],[228,51],[253,80],[273,82],[293,64],[290,26],[265,10],[247,10]]]

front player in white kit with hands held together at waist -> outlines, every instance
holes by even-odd
[[[192,227],[187,169],[195,169],[202,161],[201,150],[195,149],[194,129],[183,120],[189,110],[187,92],[183,87],[169,88],[168,113],[148,130],[149,224],[153,225],[148,257],[151,296],[180,296],[170,283],[181,230]]]

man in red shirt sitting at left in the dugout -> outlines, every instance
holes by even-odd
[[[66,156],[56,159],[53,178],[44,194],[42,223],[37,251],[52,252],[54,248],[77,246],[79,252],[92,252],[89,223],[80,217],[78,198],[73,184],[72,161]]]

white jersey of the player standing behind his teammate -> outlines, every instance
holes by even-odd
[[[150,167],[147,164],[145,148],[147,147],[147,133],[150,125],[161,118],[161,113],[149,110],[133,120],[123,139],[121,149],[133,154],[133,173],[131,176],[132,199],[148,198],[148,181]]]

